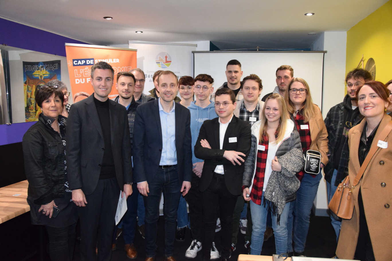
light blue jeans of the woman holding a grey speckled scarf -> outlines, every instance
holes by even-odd
[[[264,192],[261,196],[263,202]],[[291,203],[291,202],[290,202]],[[271,215],[272,228],[274,229],[276,254],[286,253],[287,251],[287,216],[289,214],[290,203],[285,205],[280,215],[279,225],[277,216]],[[263,203],[257,205],[250,200],[250,214],[252,216],[252,242],[250,243],[250,254],[259,256],[263,248],[264,232],[267,225],[267,214],[272,210],[264,207]]]

